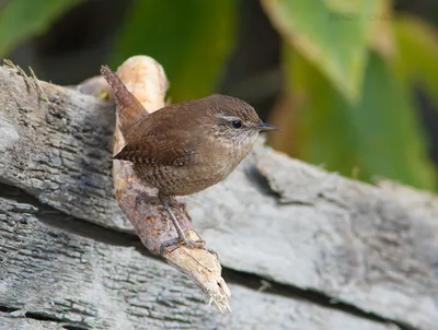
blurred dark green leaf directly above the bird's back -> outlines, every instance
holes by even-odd
[[[148,55],[164,68],[172,102],[210,94],[233,46],[233,0],[135,1],[111,62]]]

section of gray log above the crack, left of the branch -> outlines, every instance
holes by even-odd
[[[41,83],[48,101],[0,69],[0,180],[68,214],[131,229],[111,179],[114,106]]]

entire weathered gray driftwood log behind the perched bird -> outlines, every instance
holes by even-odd
[[[220,315],[119,211],[113,105],[5,68],[0,105],[0,329],[436,329],[436,197],[261,141],[184,198],[232,292]]]

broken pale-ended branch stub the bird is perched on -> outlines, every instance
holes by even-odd
[[[114,135],[114,151],[116,155],[124,146],[125,141],[119,129],[120,119],[124,125],[135,122],[141,110],[153,113],[164,106],[164,96],[168,81],[163,69],[153,59],[146,56],[132,57],[118,68],[118,74],[125,85],[137,99],[141,101],[143,109],[135,107],[130,111],[118,111]],[[102,91],[107,86],[103,84]],[[122,96],[120,96],[122,97]],[[116,103],[119,107],[126,104]],[[120,116],[127,118],[120,118]],[[153,254],[160,254],[161,246],[177,237],[177,233],[160,203],[157,203],[158,190],[141,182],[129,162],[114,160],[113,179],[118,204],[136,228],[145,246]],[[191,239],[200,239],[194,229],[191,217],[184,204],[174,208],[175,216],[180,220],[183,229]],[[180,271],[189,275],[211,298],[220,311],[231,310],[228,298],[231,295],[226,282],[221,278],[221,267],[217,256],[206,249],[189,249],[178,245],[165,249],[163,258]]]

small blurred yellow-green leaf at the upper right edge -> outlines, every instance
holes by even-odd
[[[399,57],[394,62],[408,83],[422,82],[438,104],[438,32],[415,17],[394,22]]]

